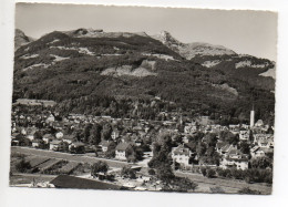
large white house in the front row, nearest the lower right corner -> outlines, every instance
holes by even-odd
[[[243,154],[239,149],[232,148],[220,161],[220,167],[248,169],[248,155]]]

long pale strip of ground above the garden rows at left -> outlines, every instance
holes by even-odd
[[[78,163],[88,163],[88,164],[94,164],[99,161],[104,161],[107,163],[107,165],[110,167],[119,167],[119,168],[121,168],[125,165],[128,165],[128,163],[121,162],[121,161],[105,159],[105,158],[92,157],[92,156],[79,155],[79,154],[73,155],[73,154],[68,154],[68,153],[59,153],[59,152],[53,152],[53,151],[35,149],[35,148],[18,147],[18,146],[12,146],[11,153],[21,153],[21,154],[25,154],[25,155],[38,155],[38,156],[43,156],[43,157],[65,159],[65,161],[78,162]]]

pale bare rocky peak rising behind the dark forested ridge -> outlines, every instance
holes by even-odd
[[[233,55],[236,54],[233,50],[229,50],[222,45],[213,45],[208,43],[182,43],[171,35],[169,32],[162,31],[160,34],[154,35],[154,39],[161,41],[173,51],[179,53],[183,58],[191,60],[196,55]]]

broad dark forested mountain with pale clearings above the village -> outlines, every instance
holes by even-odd
[[[247,121],[254,103],[257,115],[270,120],[275,81],[260,75],[269,60],[238,54],[186,60],[172,49],[183,43],[165,38],[171,45],[143,32],[48,33],[16,51],[13,101],[54,100],[62,113],[154,120],[161,111],[181,110],[222,121]]]

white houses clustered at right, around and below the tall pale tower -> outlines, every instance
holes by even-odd
[[[220,155],[219,167],[224,169],[230,167],[247,169],[250,158],[264,157],[274,153],[274,127],[264,125],[261,120],[251,125],[238,124],[229,126],[214,124],[200,125],[197,122],[192,122],[184,126],[183,144],[172,149],[173,161],[181,164],[184,169],[192,167],[191,158],[196,153],[189,147],[191,141],[188,136],[193,136],[197,132],[219,134],[223,131],[238,135],[239,142],[248,143],[250,148],[249,154],[244,154],[237,148],[237,145],[227,144],[218,139],[216,152]]]

